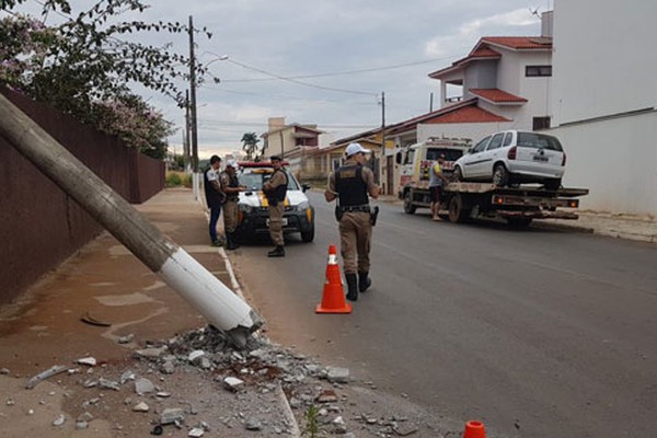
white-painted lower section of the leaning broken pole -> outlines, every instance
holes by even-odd
[[[240,297],[181,247],[164,262],[158,275],[217,328],[230,331],[260,324]]]

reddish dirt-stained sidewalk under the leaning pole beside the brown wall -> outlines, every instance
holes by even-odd
[[[232,287],[230,265],[221,257],[222,250],[208,244],[204,209],[189,189],[166,189],[137,209]],[[178,420],[180,428],[164,426],[166,436],[186,437],[194,427],[195,434],[206,437],[298,436],[295,417],[275,381],[261,379],[238,393],[223,388],[223,377],[239,377],[241,368],[249,368],[247,358],[209,356],[209,365],[195,365],[187,360],[187,345],[178,345],[174,355],[176,344],[170,339],[191,331],[203,338],[203,332],[194,331],[206,325],[125,246],[102,233],[19,303],[0,309],[2,436],[145,437],[166,408],[180,410],[175,414],[186,417]],[[178,344],[189,341],[184,339]],[[169,355],[134,357],[139,349],[162,346],[162,341]],[[95,366],[77,362],[89,357]],[[164,358],[171,372],[162,370]],[[54,366],[66,370],[25,389],[30,378]],[[142,394],[137,393],[137,381]],[[256,431],[247,430],[247,423]]]

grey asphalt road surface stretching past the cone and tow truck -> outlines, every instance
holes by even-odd
[[[382,208],[373,288],[316,315],[332,210],[314,243],[235,253],[269,334],[489,436],[637,437],[657,418],[657,250],[592,234],[434,222]]]

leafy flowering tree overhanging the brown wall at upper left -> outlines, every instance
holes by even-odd
[[[145,32],[187,33],[188,27],[177,22],[120,21],[124,12],[148,8],[139,0],[100,0],[62,24],[46,26],[12,11],[24,1],[0,0],[0,8],[12,12],[0,23],[0,84],[163,158],[172,124],[129,85],[140,83],[182,107],[184,96],[176,82],[188,81],[189,59],[171,51],[170,44],[154,47],[127,38]],[[43,16],[53,11],[70,14],[71,8],[67,0],[47,0]],[[196,70],[200,83],[207,69],[197,65]]]

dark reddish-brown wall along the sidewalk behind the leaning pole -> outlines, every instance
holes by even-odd
[[[127,200],[141,203],[163,188],[162,161],[18,93],[1,91]],[[76,201],[0,137],[0,303],[19,296],[101,231]]]

